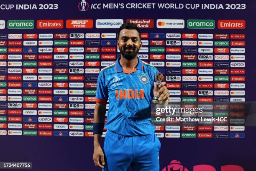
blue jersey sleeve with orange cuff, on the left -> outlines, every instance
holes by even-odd
[[[100,73],[98,76],[95,99],[98,103],[107,103],[108,101],[108,88],[105,85],[105,78],[103,73]]]

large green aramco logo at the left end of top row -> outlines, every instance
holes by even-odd
[[[33,29],[34,20],[8,20],[8,29]]]

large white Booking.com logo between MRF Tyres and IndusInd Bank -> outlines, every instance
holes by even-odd
[[[123,24],[122,19],[96,20],[96,28],[120,28],[122,24]]]

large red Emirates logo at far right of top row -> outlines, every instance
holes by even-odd
[[[218,20],[218,29],[245,29],[245,20]]]

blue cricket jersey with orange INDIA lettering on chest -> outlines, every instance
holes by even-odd
[[[119,60],[103,68],[97,80],[96,101],[109,99],[105,127],[123,136],[154,133],[150,103],[158,70],[138,58],[138,65],[129,72]]]

